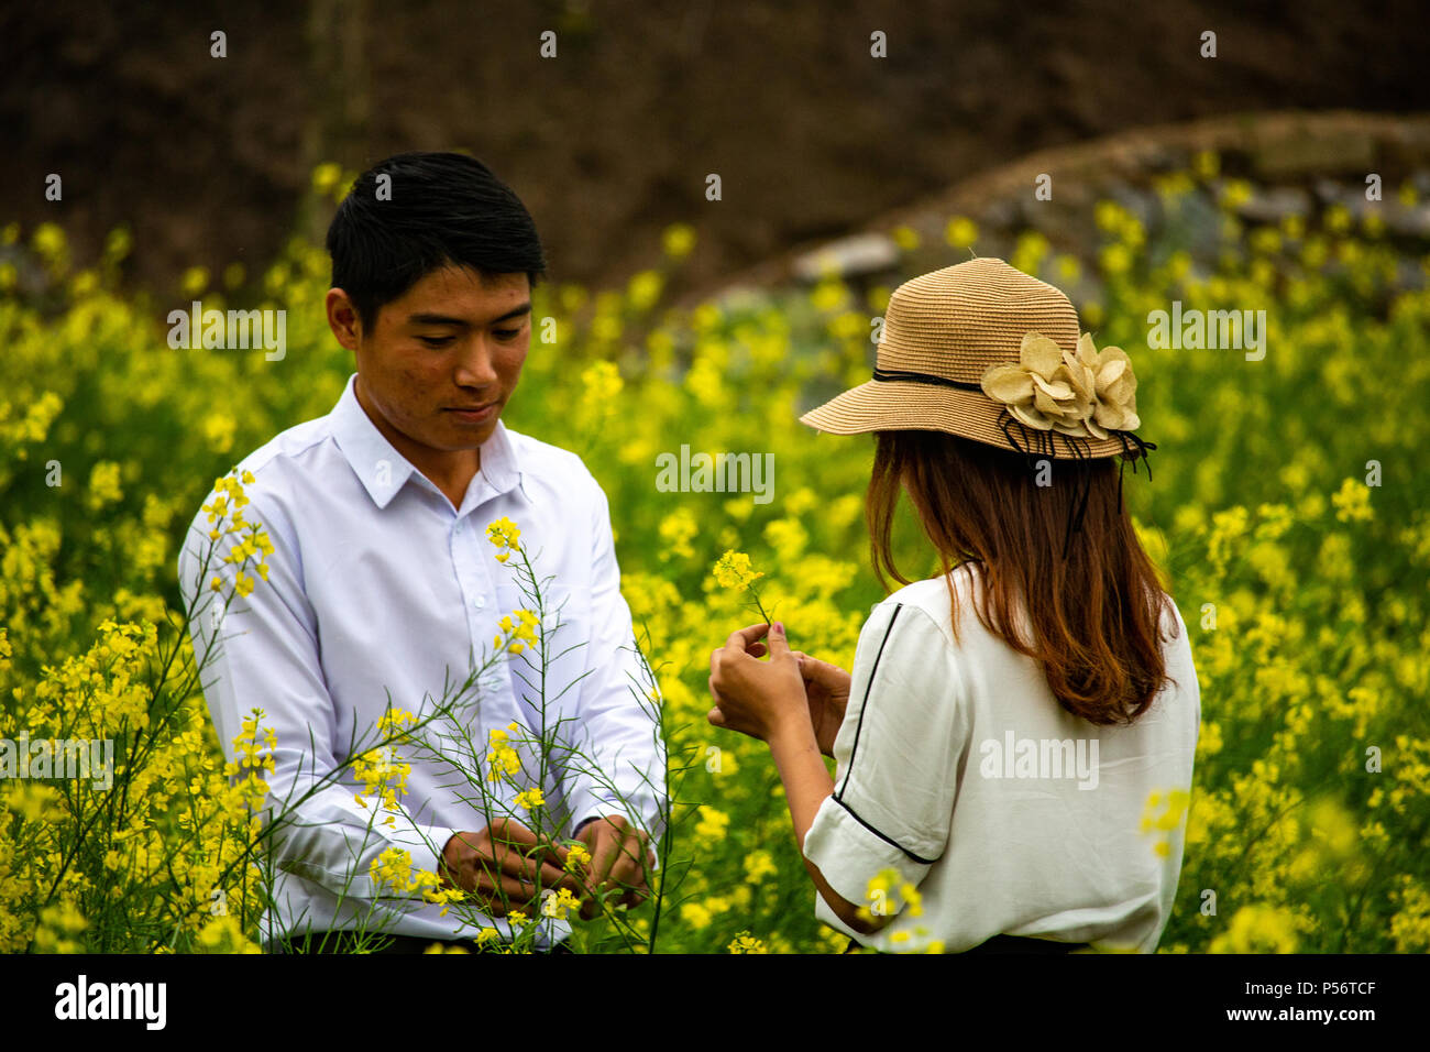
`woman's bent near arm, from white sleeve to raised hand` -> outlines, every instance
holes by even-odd
[[[751,650],[766,631],[769,660],[761,661]],[[834,915],[825,916],[861,935],[902,912],[871,916],[864,903],[842,897],[835,886],[858,897],[868,882],[894,870],[901,889],[917,887],[948,844],[958,763],[968,739],[962,677],[948,644],[947,631],[928,611],[902,603],[877,607],[859,633],[855,656],[857,668],[862,657],[868,673],[859,674],[861,697],[849,698],[844,720],[848,724],[849,713],[857,713],[865,744],[858,767],[852,747],[837,757],[844,771],[837,794],[784,627],[739,628],[711,654],[715,708],[709,721],[768,743],[805,867]],[[851,686],[859,676],[851,674]],[[911,905],[909,915],[918,913],[919,906]]]

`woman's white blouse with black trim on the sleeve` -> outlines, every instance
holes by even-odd
[[[1040,666],[978,621],[977,565],[952,580],[957,641],[942,578],[874,607],[834,746],[834,794],[804,844],[834,890],[894,919],[858,935],[815,893],[818,917],[894,952],[935,942],[961,952],[998,933],[1154,950],[1185,812],[1170,830],[1158,819],[1171,790],[1191,790],[1201,720],[1181,614],[1171,605],[1164,621],[1174,623],[1164,653],[1175,683],[1131,727],[1097,727],[1058,706]],[[919,916],[904,883],[917,887]]]

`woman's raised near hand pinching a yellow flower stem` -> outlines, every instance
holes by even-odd
[[[756,651],[765,653],[759,640],[766,634],[769,660],[761,661]],[[809,726],[804,676],[784,624],[752,624],[732,631],[725,646],[711,653],[711,697],[715,698],[708,716],[712,726],[761,741],[769,741],[795,721]]]

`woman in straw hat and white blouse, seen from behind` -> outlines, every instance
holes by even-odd
[[[875,432],[874,567],[905,587],[852,674],[782,624],[732,633],[709,721],[769,744],[817,915],[851,949],[1155,949],[1201,704],[1114,467],[1155,448],[1135,385],[1058,289],[972,259],[899,286],[874,379],[801,418]],[[894,567],[901,491],[941,577]]]

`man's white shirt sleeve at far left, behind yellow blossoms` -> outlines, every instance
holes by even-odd
[[[267,729],[276,731],[267,804],[273,816],[289,812],[273,833],[275,865],[349,899],[412,897],[415,893],[398,893],[390,883],[379,887],[370,875],[373,860],[396,847],[410,853],[413,876],[436,872],[455,830],[416,823],[400,799],[395,814],[385,810],[375,817],[379,800],[366,796],[366,807],[358,803],[350,773],[343,774],[346,784],[335,780],[336,710],[319,663],[319,625],[303,591],[300,552],[282,520],[266,514],[252,492],[249,501],[245,520],[262,524],[273,547],[266,581],[250,564],[245,573],[253,590],[236,594],[239,570],[223,557],[240,537],[227,534],[213,544],[203,512],[179,555],[194,658],[223,754],[235,759],[233,739],[242,720],[262,708],[259,747]],[[217,591],[210,587],[214,577],[222,584]],[[368,737],[362,739],[365,730]],[[359,741],[372,741],[372,731],[358,729]],[[350,747],[346,731],[342,746],[345,751]],[[389,814],[393,824],[385,824]]]

